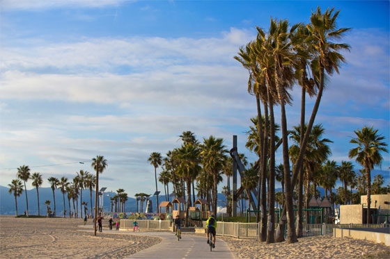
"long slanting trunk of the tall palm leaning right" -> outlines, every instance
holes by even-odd
[[[320,70],[320,88],[318,89],[317,98],[315,99],[315,103],[313,106],[313,110],[311,112],[311,117],[309,119],[309,124],[307,125],[306,132],[304,135],[304,141],[302,142],[301,148],[299,149],[299,155],[297,159],[297,167],[295,167],[294,172],[292,174],[292,181],[291,181],[291,189],[294,190],[295,183],[297,181],[298,172],[300,170],[300,167],[302,167],[302,161],[304,158],[304,153],[306,151],[307,142],[309,140],[309,135],[311,133],[311,128],[313,127],[315,115],[317,115],[318,108],[320,107],[320,101],[322,97],[322,92],[324,90],[325,80],[324,80],[324,67],[319,62],[319,70]],[[276,241],[281,242],[284,240],[283,237],[283,231],[281,229],[284,229],[286,225],[286,221],[284,217],[286,216],[286,207],[283,207],[283,211],[281,213],[281,221],[279,222],[278,229],[276,231]]]

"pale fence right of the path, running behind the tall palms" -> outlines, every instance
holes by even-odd
[[[206,226],[206,222],[203,222]],[[303,224],[303,236],[332,235],[334,228],[389,228],[390,224]],[[259,238],[260,223],[217,222],[217,235]]]

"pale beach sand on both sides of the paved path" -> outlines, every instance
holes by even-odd
[[[121,231],[112,235],[107,228],[95,237],[80,231],[82,224],[82,219],[1,216],[0,258],[126,258],[161,242],[159,237],[119,234]],[[329,235],[300,238],[295,244],[218,239],[227,242],[236,258],[390,258],[390,247],[384,244]]]

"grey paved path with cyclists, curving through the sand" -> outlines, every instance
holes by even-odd
[[[79,226],[84,231],[93,231],[91,226]],[[88,230],[86,230],[86,228]],[[210,252],[210,246],[206,243],[206,237],[201,235],[182,234],[182,239],[178,241],[175,233],[171,232],[133,232],[133,231],[109,231],[103,228],[105,234],[125,234],[125,235],[149,235],[161,237],[162,242],[134,253],[127,258],[226,258],[233,259],[226,242],[219,240],[215,243],[215,249]]]

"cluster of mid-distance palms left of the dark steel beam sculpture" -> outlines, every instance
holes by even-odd
[[[156,192],[158,192],[157,167],[162,165],[159,181],[164,183],[164,188],[166,187],[166,201],[169,201],[168,185],[173,183],[176,197],[186,197],[187,194],[187,210],[194,203],[196,190],[197,196],[207,199],[212,211],[217,212],[217,186],[222,181],[221,174],[224,172],[231,174],[231,170],[226,170],[229,159],[226,156],[228,150],[223,144],[224,140],[211,135],[203,138],[203,143],[200,143],[191,131],[182,132],[180,139],[181,147],[168,151],[165,158],[162,158],[159,152],[151,153],[148,158],[155,169]],[[158,204],[157,196],[157,212]]]

